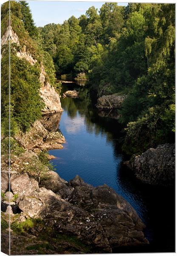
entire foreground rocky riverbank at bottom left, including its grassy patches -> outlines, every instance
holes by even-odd
[[[66,182],[50,170],[39,184],[24,169],[32,157],[39,159],[26,150],[12,158],[11,192],[6,186],[1,201],[5,222],[11,214],[12,254],[111,253],[148,244],[136,211],[113,189],[93,187],[79,176]],[[3,162],[5,169],[8,164]]]

